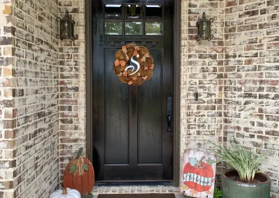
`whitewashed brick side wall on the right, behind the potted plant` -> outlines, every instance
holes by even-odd
[[[225,1],[224,137],[269,150],[260,169],[279,197],[279,1]]]

